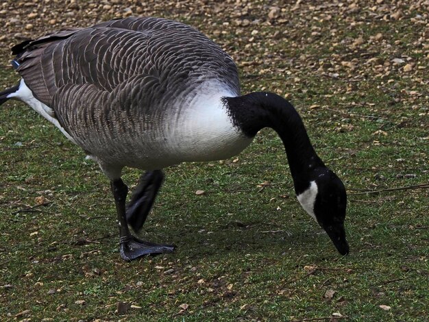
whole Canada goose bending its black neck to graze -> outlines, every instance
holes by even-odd
[[[123,260],[175,249],[137,237],[162,169],[236,156],[264,127],[282,140],[299,203],[339,253],[349,253],[345,187],[317,156],[295,108],[271,92],[241,95],[230,55],[193,27],[121,18],[27,40],[12,54],[21,80],[0,92],[0,104],[27,103],[99,164],[110,179]],[[125,166],[143,170],[128,203]]]

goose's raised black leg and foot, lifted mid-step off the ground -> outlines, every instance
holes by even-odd
[[[147,171],[140,177],[140,183],[127,204],[127,223],[134,232],[138,232],[145,223],[163,180],[164,173],[160,170]]]

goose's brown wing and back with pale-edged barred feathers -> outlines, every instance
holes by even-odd
[[[192,27],[162,18],[66,29],[18,45],[14,53],[34,97],[77,141],[111,118],[127,128],[133,120],[151,127],[173,99],[185,99],[210,79],[239,94],[229,55]]]

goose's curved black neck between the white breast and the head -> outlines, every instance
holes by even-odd
[[[225,97],[234,125],[253,137],[263,127],[271,127],[283,141],[295,192],[302,193],[310,175],[324,166],[313,149],[304,123],[292,104],[269,92],[253,92],[241,97]]]

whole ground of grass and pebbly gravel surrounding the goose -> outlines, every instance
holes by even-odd
[[[22,103],[0,108],[2,321],[428,321],[429,1],[3,1],[10,47],[62,27],[162,16],[232,55],[243,93],[289,99],[345,182],[350,255],[299,207],[280,139],[180,164],[123,262],[108,180]],[[133,187],[138,171],[127,169]]]

